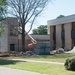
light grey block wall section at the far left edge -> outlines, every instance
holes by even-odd
[[[8,52],[8,26],[3,24],[4,33],[0,36],[0,52]]]

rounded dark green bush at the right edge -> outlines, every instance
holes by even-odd
[[[68,58],[64,66],[67,70],[75,71],[75,56]]]

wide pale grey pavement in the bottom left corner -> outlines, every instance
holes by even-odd
[[[36,72],[0,67],[0,75],[45,75]]]

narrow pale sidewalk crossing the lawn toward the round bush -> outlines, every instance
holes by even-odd
[[[9,59],[9,60],[23,61],[23,62],[39,62],[39,63],[48,63],[48,64],[60,64],[60,65],[64,65],[64,63],[61,63],[61,62],[50,62],[50,61],[39,61],[39,60],[28,60],[28,59]]]

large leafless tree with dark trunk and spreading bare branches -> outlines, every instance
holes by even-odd
[[[25,35],[30,32],[35,19],[50,1],[51,0],[8,0],[12,15],[16,16],[22,25],[22,50],[25,50]],[[25,26],[28,24],[30,24],[30,29],[25,34]]]

